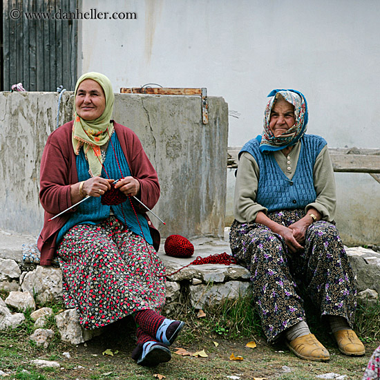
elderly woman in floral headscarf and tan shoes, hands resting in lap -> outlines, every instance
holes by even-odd
[[[305,320],[303,289],[330,323],[339,350],[362,355],[352,330],[357,290],[333,218],[334,173],[322,137],[305,134],[302,93],[274,90],[262,135],[239,153],[230,243],[251,272],[256,309],[268,341],[284,338],[302,359],[329,352]]]

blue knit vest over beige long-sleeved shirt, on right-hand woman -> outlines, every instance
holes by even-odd
[[[273,153],[261,153],[258,136],[243,146],[239,155],[246,151],[258,164],[260,176],[256,202],[269,212],[284,209],[303,209],[316,200],[313,169],[317,156],[321,153],[325,140],[316,135],[304,135],[301,139],[296,172],[289,180],[280,169]]]

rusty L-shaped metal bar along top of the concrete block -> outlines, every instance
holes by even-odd
[[[202,99],[202,122],[209,122],[209,104],[207,103],[207,88],[164,88],[164,87],[132,87],[120,88],[122,94],[148,95],[200,95]]]

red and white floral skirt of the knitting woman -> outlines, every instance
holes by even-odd
[[[64,302],[88,329],[139,310],[160,312],[166,296],[165,267],[141,236],[110,216],[99,225],[76,225],[57,250]]]

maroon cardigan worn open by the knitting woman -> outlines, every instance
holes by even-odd
[[[142,149],[137,135],[126,126],[115,122],[113,125],[129,169],[131,169],[131,175],[140,182],[139,198],[149,209],[153,209],[160,198],[157,173]],[[44,227],[37,241],[37,247],[41,251],[41,265],[51,265],[58,231],[70,218],[70,213],[75,212],[75,209],[71,209],[48,222],[48,219],[72,206],[70,185],[78,182],[76,155],[71,141],[72,130],[73,122],[68,122],[52,132],[48,137],[41,159],[39,200],[45,210]],[[153,247],[158,251],[160,233],[153,227],[145,213],[144,206],[135,200],[133,205],[144,214],[148,221]]]

